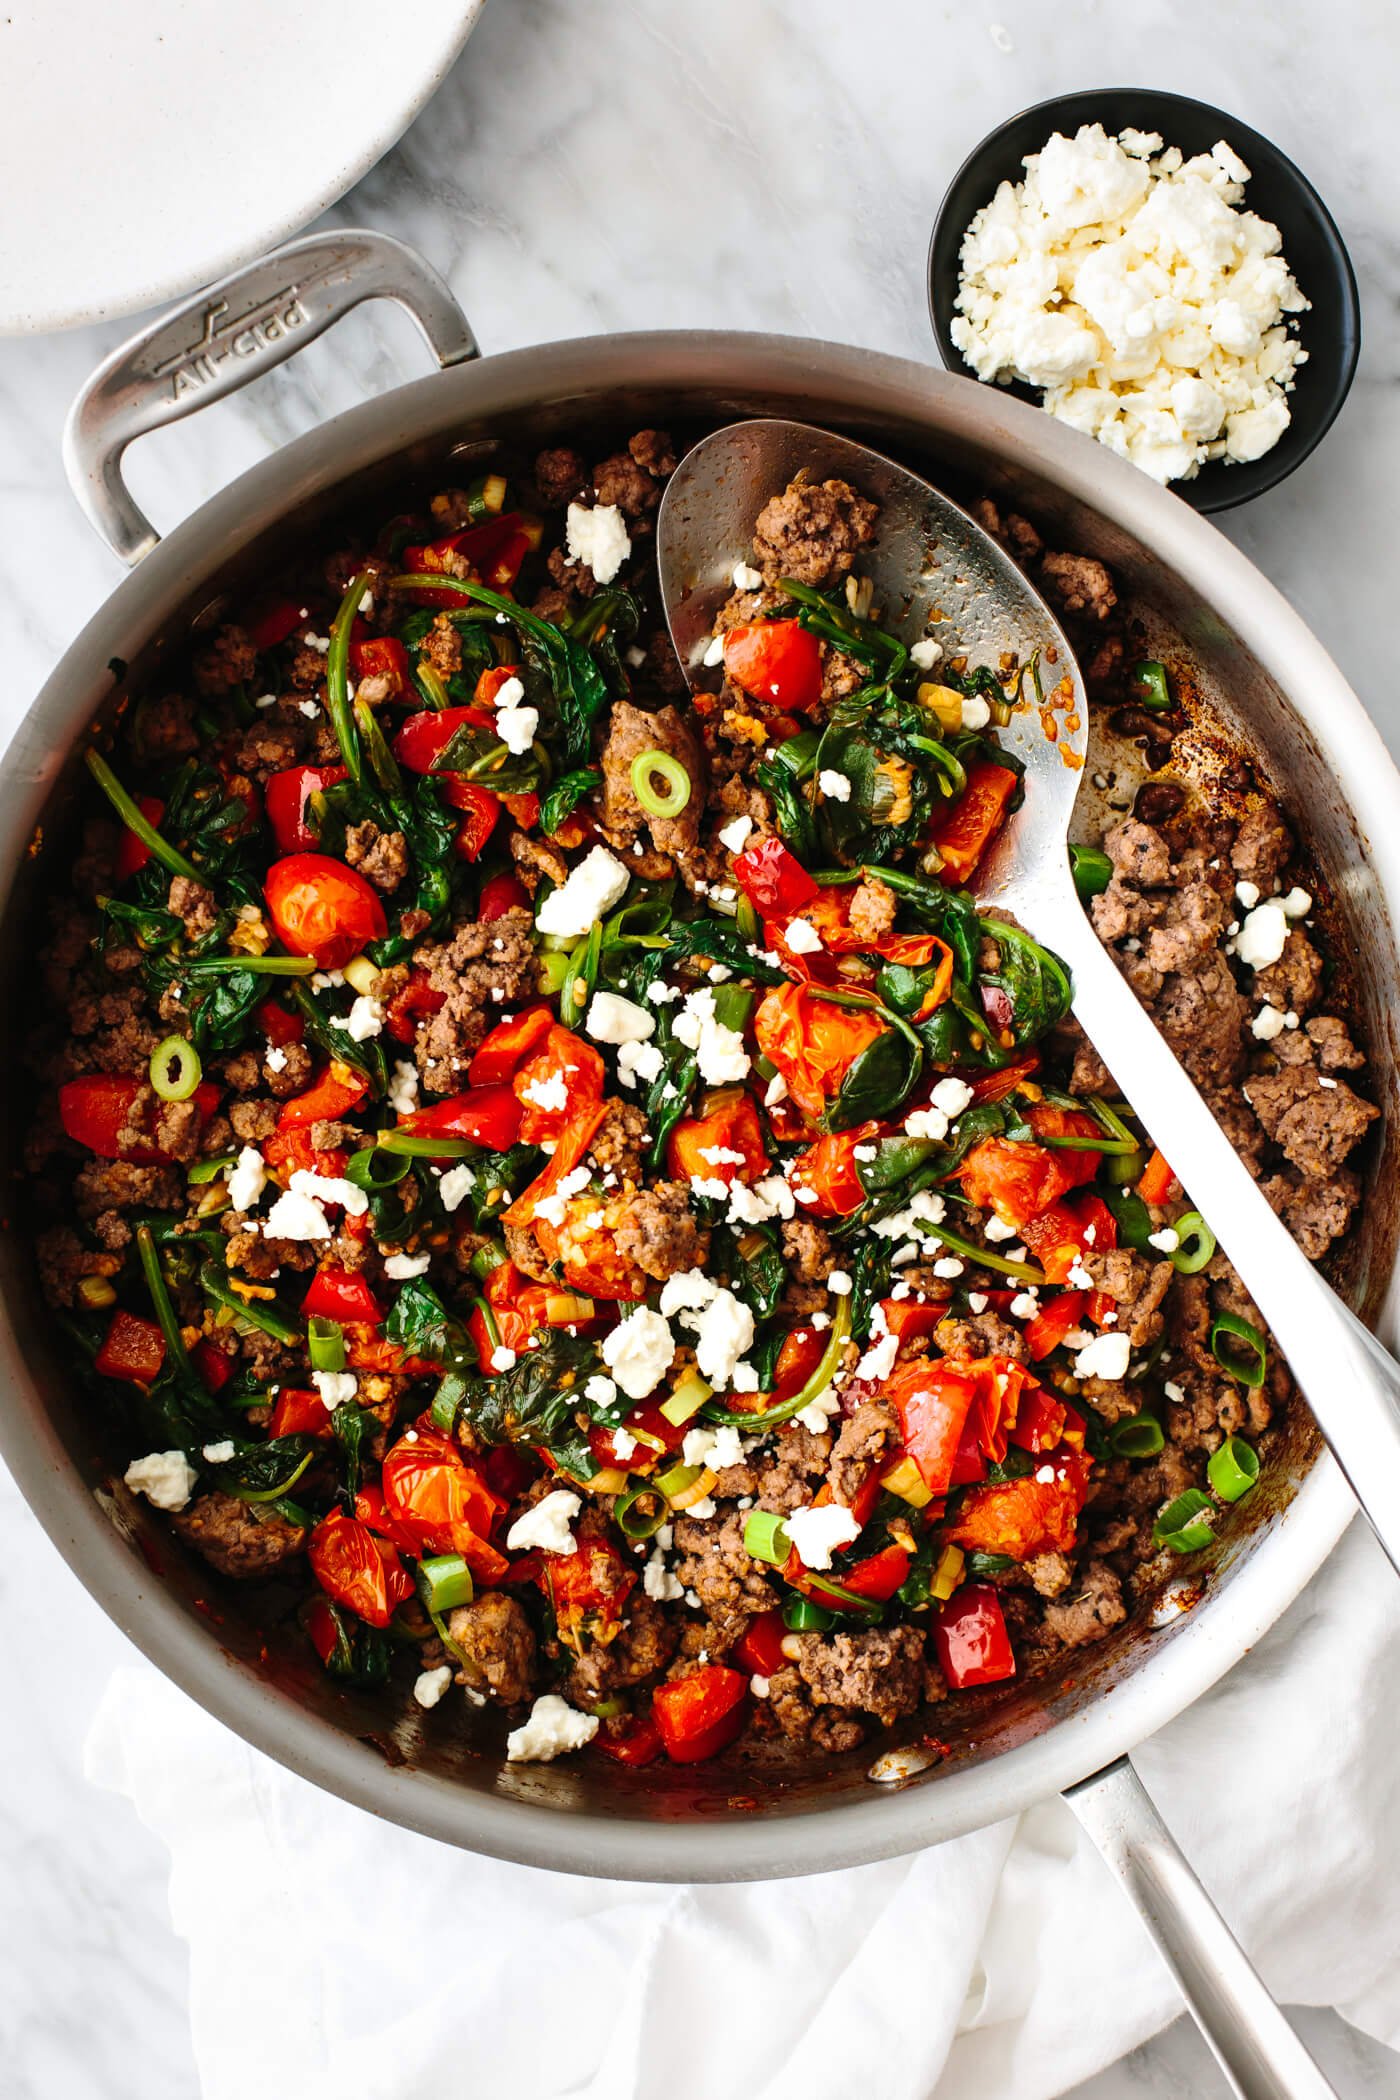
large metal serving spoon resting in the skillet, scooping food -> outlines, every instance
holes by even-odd
[[[686,674],[699,670],[735,565],[751,554],[758,512],[804,468],[879,504],[861,573],[896,632],[930,632],[974,666],[1039,653],[1049,706],[1022,701],[999,731],[1026,764],[1026,800],[982,863],[978,903],[1016,918],[1068,964],[1077,1018],[1234,1262],[1400,1571],[1400,1365],[1274,1216],[1079,903],[1066,836],[1089,710],[1075,655],[1016,563],[947,496],[867,445],[802,422],[728,424],[686,454],[657,517],[665,617]]]

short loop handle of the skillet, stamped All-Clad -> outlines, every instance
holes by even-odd
[[[367,298],[407,309],[439,365],[481,355],[466,315],[422,256],[388,233],[348,229],[309,233],[246,262],[97,368],[69,410],[63,464],[113,554],[134,567],[160,540],[122,479],[130,441],[237,393]]]

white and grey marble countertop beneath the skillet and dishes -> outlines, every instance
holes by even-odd
[[[330,223],[422,248],[487,351],[730,326],[934,361],[928,231],[993,124],[1125,80],[1238,111],[1329,200],[1362,286],[1364,346],[1320,452],[1222,529],[1318,630],[1400,754],[1375,605],[1400,479],[1400,17],[1387,0],[1335,0],[1327,38],[1303,38],[1291,13],[1261,0],[1228,15],[1213,0],[493,0],[441,94]],[[122,334],[0,342],[0,735],[118,582],[65,487],[59,433]],[[361,311],[136,447],[136,496],[168,525],[269,447],[420,370],[409,323]],[[0,1480],[0,1667],[25,1716],[0,1793],[0,2056],[15,2100],[197,2094],[164,1856],[126,1804],[80,1777],[99,1690],[130,1653]],[[1327,2014],[1303,2020],[1343,2100],[1398,2090],[1398,2058]],[[1215,2092],[1205,2050],[1178,2026],[1081,2100]]]

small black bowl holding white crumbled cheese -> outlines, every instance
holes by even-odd
[[[1289,267],[1303,298],[1312,300],[1312,311],[1299,315],[1308,363],[1289,395],[1293,420],[1274,449],[1240,466],[1211,460],[1194,481],[1171,483],[1196,510],[1228,510],[1291,475],[1329,430],[1356,372],[1360,300],[1341,235],[1308,176],[1276,145],[1224,109],[1154,88],[1098,88],[1056,94],[1054,101],[1022,109],[982,139],[949,185],[928,250],[928,304],[942,361],[951,372],[968,372],[949,334],[957,311],[953,302],[963,233],[982,206],[991,204],[999,183],[1022,181],[1026,153],[1039,153],[1052,132],[1073,136],[1081,124],[1102,124],[1110,136],[1129,126],[1154,130],[1188,160],[1192,153],[1209,153],[1217,139],[1226,139],[1253,174],[1245,189],[1247,210],[1278,227]],[[1010,391],[1022,401],[1039,401],[1035,386],[1016,382]]]

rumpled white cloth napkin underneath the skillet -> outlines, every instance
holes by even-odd
[[[1396,1602],[1352,1527],[1140,1751],[1272,1991],[1392,2045]],[[804,1882],[584,1882],[348,1808],[151,1670],[113,1678],[88,1777],[170,1846],[204,2100],[1049,2100],[1180,2010],[1060,1802]]]

